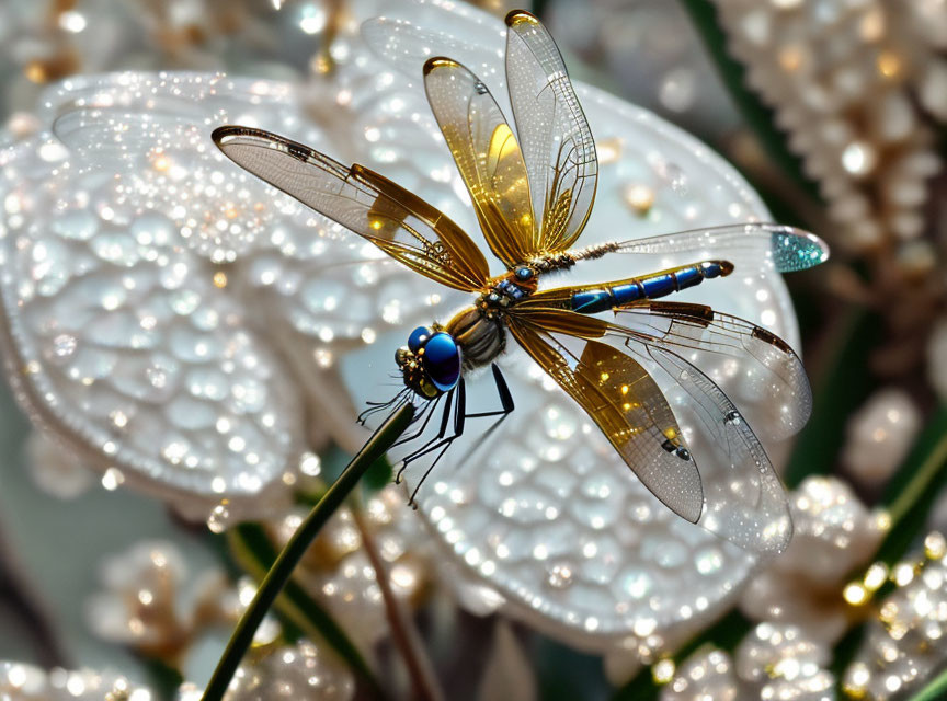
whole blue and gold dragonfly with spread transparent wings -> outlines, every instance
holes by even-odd
[[[468,420],[514,411],[513,393],[497,365],[512,338],[578,402],[671,510],[748,550],[781,551],[791,537],[781,484],[746,417],[698,366],[701,357],[723,354],[746,368],[772,398],[767,425],[785,437],[801,428],[811,410],[802,364],[766,329],[706,304],[665,298],[734,269],[806,269],[825,261],[828,248],[814,234],[763,222],[577,248],[597,187],[595,141],[541,22],[514,10],[506,26],[515,131],[483,81],[466,67],[445,57],[430,58],[423,67],[427,101],[483,238],[505,268],[500,275],[490,274],[483,252],[445,214],[368,168],[344,165],[253,127],[218,127],[214,142],[241,168],[418,274],[475,296],[444,323],[409,334],[395,354],[403,389],[360,416],[364,423],[375,412],[415,402],[420,427],[406,441],[419,438],[438,417],[433,437],[400,462],[399,479],[412,462],[430,460],[412,505]],[[700,257],[706,251],[712,254]],[[692,263],[651,274],[545,285],[603,256],[691,252]],[[465,377],[487,367],[500,407],[468,412]],[[659,375],[686,393],[696,416],[689,432],[682,429]]]

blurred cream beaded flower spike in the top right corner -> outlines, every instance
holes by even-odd
[[[940,117],[947,12],[939,3],[717,0],[746,80],[776,112],[789,147],[820,183],[837,241],[867,250],[916,239],[925,181],[940,170],[915,99]],[[935,28],[936,27],[936,28]],[[916,254],[905,246],[906,258]],[[929,266],[926,256],[924,266]]]

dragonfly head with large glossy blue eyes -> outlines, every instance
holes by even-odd
[[[395,353],[404,384],[425,399],[453,390],[460,380],[460,346],[446,331],[418,326]]]

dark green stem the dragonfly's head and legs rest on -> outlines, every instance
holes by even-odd
[[[276,558],[270,572],[260,584],[256,595],[250,607],[243,612],[240,622],[233,630],[230,641],[227,643],[227,648],[217,663],[217,668],[210,677],[206,691],[204,691],[203,701],[220,701],[227,687],[230,686],[230,679],[247,650],[253,641],[253,635],[256,628],[270,610],[273,601],[279,595],[286,582],[293,575],[299,560],[306,554],[309,545],[319,535],[326,521],[335,513],[335,510],[345,501],[345,497],[358,484],[358,480],[372,464],[380,458],[398,440],[401,434],[407,430],[414,417],[414,406],[411,403],[404,404],[401,409],[395,412],[388,421],[386,421],[378,430],[368,439],[358,451],[349,467],[339,475],[339,479],[332,483],[332,486],[326,492],[319,503],[312,507],[309,516],[299,526],[286,547]]]

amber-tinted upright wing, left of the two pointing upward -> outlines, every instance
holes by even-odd
[[[490,91],[449,58],[424,64],[424,88],[490,250],[507,267],[530,260],[536,222],[526,165]]]

